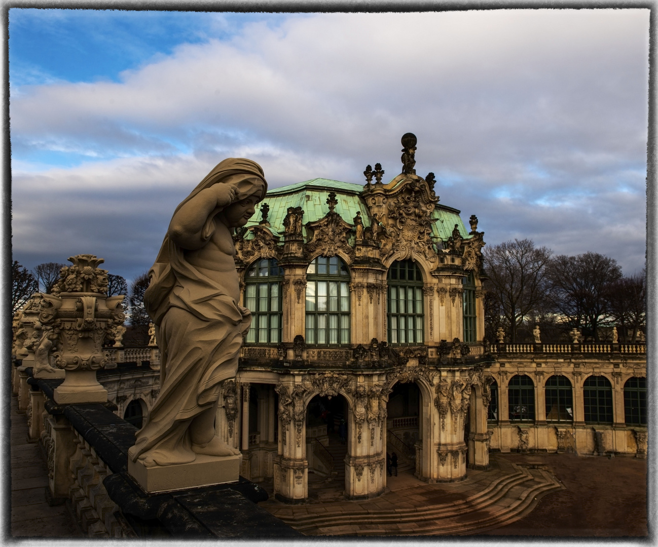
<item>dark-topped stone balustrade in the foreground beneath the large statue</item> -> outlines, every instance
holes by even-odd
[[[291,538],[299,536],[256,504],[263,488],[237,483],[147,494],[127,472],[136,427],[116,416],[116,405],[55,404],[63,378],[34,378],[26,413],[47,458],[46,498],[68,500],[80,527],[93,538]],[[39,394],[39,396],[36,396]],[[34,404],[34,409],[32,408]],[[206,510],[213,507],[210,513]],[[227,526],[226,523],[231,523]],[[258,526],[253,526],[258,522]]]

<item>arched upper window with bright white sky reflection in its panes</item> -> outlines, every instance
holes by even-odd
[[[349,270],[318,256],[306,270],[306,343],[349,344]]]

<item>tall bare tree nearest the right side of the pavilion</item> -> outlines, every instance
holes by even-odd
[[[505,241],[484,254],[489,275],[485,287],[490,294],[487,314],[497,315],[500,323],[507,326],[511,343],[517,341],[522,322],[547,303],[546,266],[550,258],[550,249],[535,247],[530,239]],[[493,329],[490,325],[490,331]]]

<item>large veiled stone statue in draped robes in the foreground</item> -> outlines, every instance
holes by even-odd
[[[238,305],[232,229],[247,224],[266,190],[259,164],[228,158],[174,211],[144,295],[161,350],[161,391],[128,452],[132,462],[155,467],[239,454],[214,425],[220,385],[236,375],[251,323]]]

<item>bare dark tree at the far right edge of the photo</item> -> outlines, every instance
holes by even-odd
[[[635,342],[646,321],[646,272],[622,277],[611,283],[607,299],[619,339]]]

